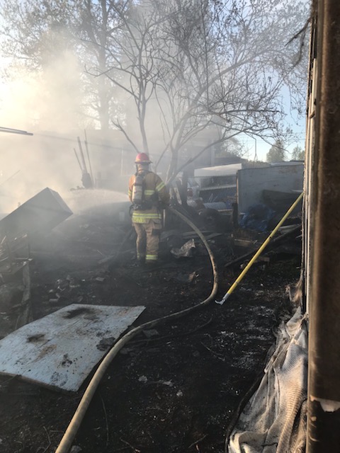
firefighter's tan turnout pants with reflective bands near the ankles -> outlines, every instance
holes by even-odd
[[[154,263],[158,259],[159,238],[161,236],[162,221],[149,219],[147,223],[132,223],[137,233],[137,260],[145,263]]]

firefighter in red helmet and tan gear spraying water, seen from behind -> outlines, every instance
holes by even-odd
[[[137,154],[136,173],[129,182],[132,225],[137,233],[137,265],[157,263],[162,231],[162,210],[169,205],[169,191],[159,176],[149,170],[152,162],[145,153]]]

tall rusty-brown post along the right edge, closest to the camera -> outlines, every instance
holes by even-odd
[[[340,445],[340,2],[317,1],[307,453]]]

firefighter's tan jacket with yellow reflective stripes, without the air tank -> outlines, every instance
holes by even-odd
[[[132,175],[129,181],[128,195],[130,201],[132,201],[132,187],[135,183],[135,175]],[[169,203],[170,195],[166,188],[166,185],[156,173],[149,171],[145,175],[145,202],[149,203],[152,207],[146,210],[133,210],[132,211],[132,222],[138,224],[146,224],[151,219],[154,221],[162,220],[162,212],[159,210],[158,201],[160,200],[165,205]]]

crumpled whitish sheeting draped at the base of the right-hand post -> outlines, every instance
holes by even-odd
[[[307,323],[298,308],[288,323],[280,324],[276,349],[237,420],[226,452],[302,453],[306,418]]]

